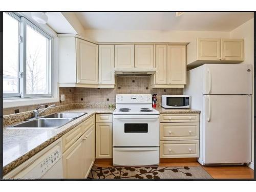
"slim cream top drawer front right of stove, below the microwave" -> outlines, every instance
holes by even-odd
[[[199,122],[199,113],[160,114],[160,122]]]

